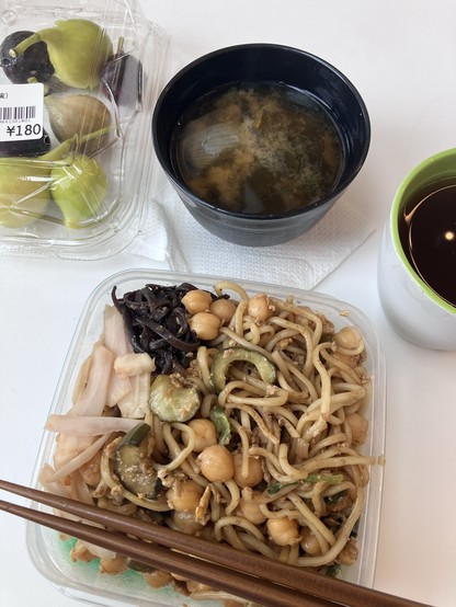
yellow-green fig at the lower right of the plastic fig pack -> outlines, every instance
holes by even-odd
[[[94,158],[78,153],[71,164],[50,171],[50,192],[65,227],[79,229],[100,209],[107,193],[107,177]]]

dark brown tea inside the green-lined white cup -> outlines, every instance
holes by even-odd
[[[456,306],[456,180],[414,192],[401,214],[399,234],[421,279]]]

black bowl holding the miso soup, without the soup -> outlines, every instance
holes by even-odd
[[[176,125],[187,108],[227,84],[281,83],[314,96],[339,128],[343,165],[332,190],[299,209],[267,215],[226,210],[196,196],[183,181],[173,154]],[[205,55],[184,67],[161,92],[152,117],[157,158],[193,217],[217,237],[248,247],[289,241],[328,213],[361,170],[369,147],[366,106],[353,84],[338,69],[309,53],[275,45],[244,44]]]

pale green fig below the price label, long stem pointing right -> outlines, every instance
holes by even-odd
[[[49,188],[53,169],[56,165],[68,168],[71,150],[80,149],[82,142],[98,139],[109,130],[103,128],[81,138],[67,139],[35,158],[0,158],[0,227],[23,228],[43,217],[53,197]],[[87,196],[87,192],[83,195]],[[100,193],[94,196],[99,197]]]

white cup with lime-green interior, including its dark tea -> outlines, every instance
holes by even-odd
[[[381,307],[399,335],[456,352],[456,148],[423,160],[400,183],[377,276]]]

